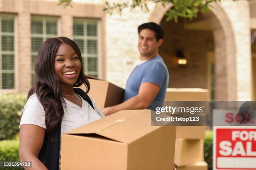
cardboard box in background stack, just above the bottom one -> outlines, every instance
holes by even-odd
[[[174,163],[177,166],[204,161],[204,140],[176,139]]]

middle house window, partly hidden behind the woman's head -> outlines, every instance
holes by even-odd
[[[35,61],[41,44],[53,37],[58,36],[58,18],[56,17],[36,17],[31,18],[31,85],[36,82]]]

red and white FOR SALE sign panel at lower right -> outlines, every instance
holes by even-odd
[[[214,170],[256,170],[256,127],[215,126]]]

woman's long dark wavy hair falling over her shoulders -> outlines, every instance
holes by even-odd
[[[52,141],[54,130],[56,130],[56,127],[64,114],[64,109],[61,103],[61,101],[64,100],[59,89],[59,80],[54,71],[56,51],[61,44],[68,44],[73,47],[82,65],[81,52],[78,45],[73,40],[70,40],[67,37],[48,39],[44,41],[38,50],[35,65],[36,83],[28,92],[28,98],[36,93],[38,100],[44,107],[46,132],[49,134]],[[86,93],[89,92],[90,83],[84,75],[83,66],[81,67],[80,75],[77,82],[75,82],[74,87],[79,87],[82,84],[87,88]]]

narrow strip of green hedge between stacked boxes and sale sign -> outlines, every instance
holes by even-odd
[[[205,162],[208,164],[208,169],[212,170],[212,139],[213,134],[212,131],[208,130],[205,133],[205,141],[204,141],[204,157]]]

